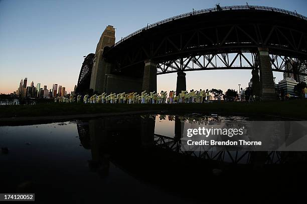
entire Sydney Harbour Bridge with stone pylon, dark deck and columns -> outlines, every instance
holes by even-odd
[[[195,10],[147,26],[115,43],[108,25],[95,54],[86,56],[78,87],[97,93],[157,91],[157,75],[186,71],[251,69],[253,92],[275,99],[272,71],[307,75],[307,17],[254,5]]]

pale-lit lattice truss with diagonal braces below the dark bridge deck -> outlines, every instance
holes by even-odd
[[[307,60],[277,54],[270,54],[270,59],[273,71],[307,76]],[[157,74],[193,70],[255,68],[259,68],[258,55],[249,51],[238,51],[236,53],[192,55],[167,60],[157,64]]]

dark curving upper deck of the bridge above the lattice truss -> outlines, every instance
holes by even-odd
[[[143,69],[146,59],[164,64],[180,58],[216,55],[226,62],[229,53],[256,53],[258,47],[268,48],[270,54],[305,61],[307,18],[280,10],[234,6],[183,14],[132,33],[110,47],[104,56],[116,64],[113,72],[129,72],[131,67]],[[221,67],[224,68],[233,67],[226,63]]]

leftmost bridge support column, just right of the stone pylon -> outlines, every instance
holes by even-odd
[[[157,63],[155,61],[145,61],[142,90],[157,92]]]

